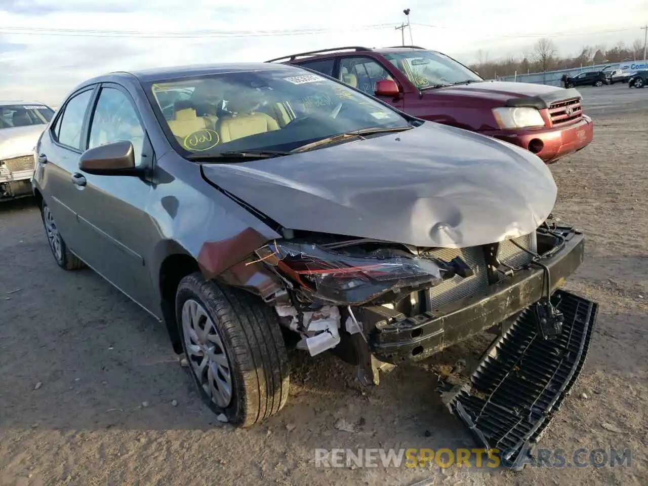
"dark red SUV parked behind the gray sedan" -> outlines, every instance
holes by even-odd
[[[417,46],[340,47],[268,62],[297,64],[339,80],[424,120],[490,135],[546,163],[592,141],[576,89],[489,81],[441,52]]]

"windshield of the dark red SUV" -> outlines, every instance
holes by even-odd
[[[384,56],[419,89],[439,84],[483,81],[476,73],[441,52],[416,49],[388,52]]]

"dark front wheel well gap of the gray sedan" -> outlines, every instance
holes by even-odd
[[[182,353],[182,343],[176,324],[176,290],[180,281],[200,270],[198,262],[189,255],[169,255],[160,266],[159,286],[162,299],[162,314],[174,351]]]

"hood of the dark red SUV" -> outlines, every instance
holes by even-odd
[[[422,92],[424,96],[454,95],[481,98],[501,102],[504,106],[533,106],[542,110],[559,100],[581,98],[577,89],[547,86],[535,83],[514,83],[506,81],[482,81],[457,84]]]

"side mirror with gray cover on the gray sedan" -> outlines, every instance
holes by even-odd
[[[139,172],[135,150],[130,141],[119,141],[89,148],[81,154],[79,168],[88,174],[127,176]]]

